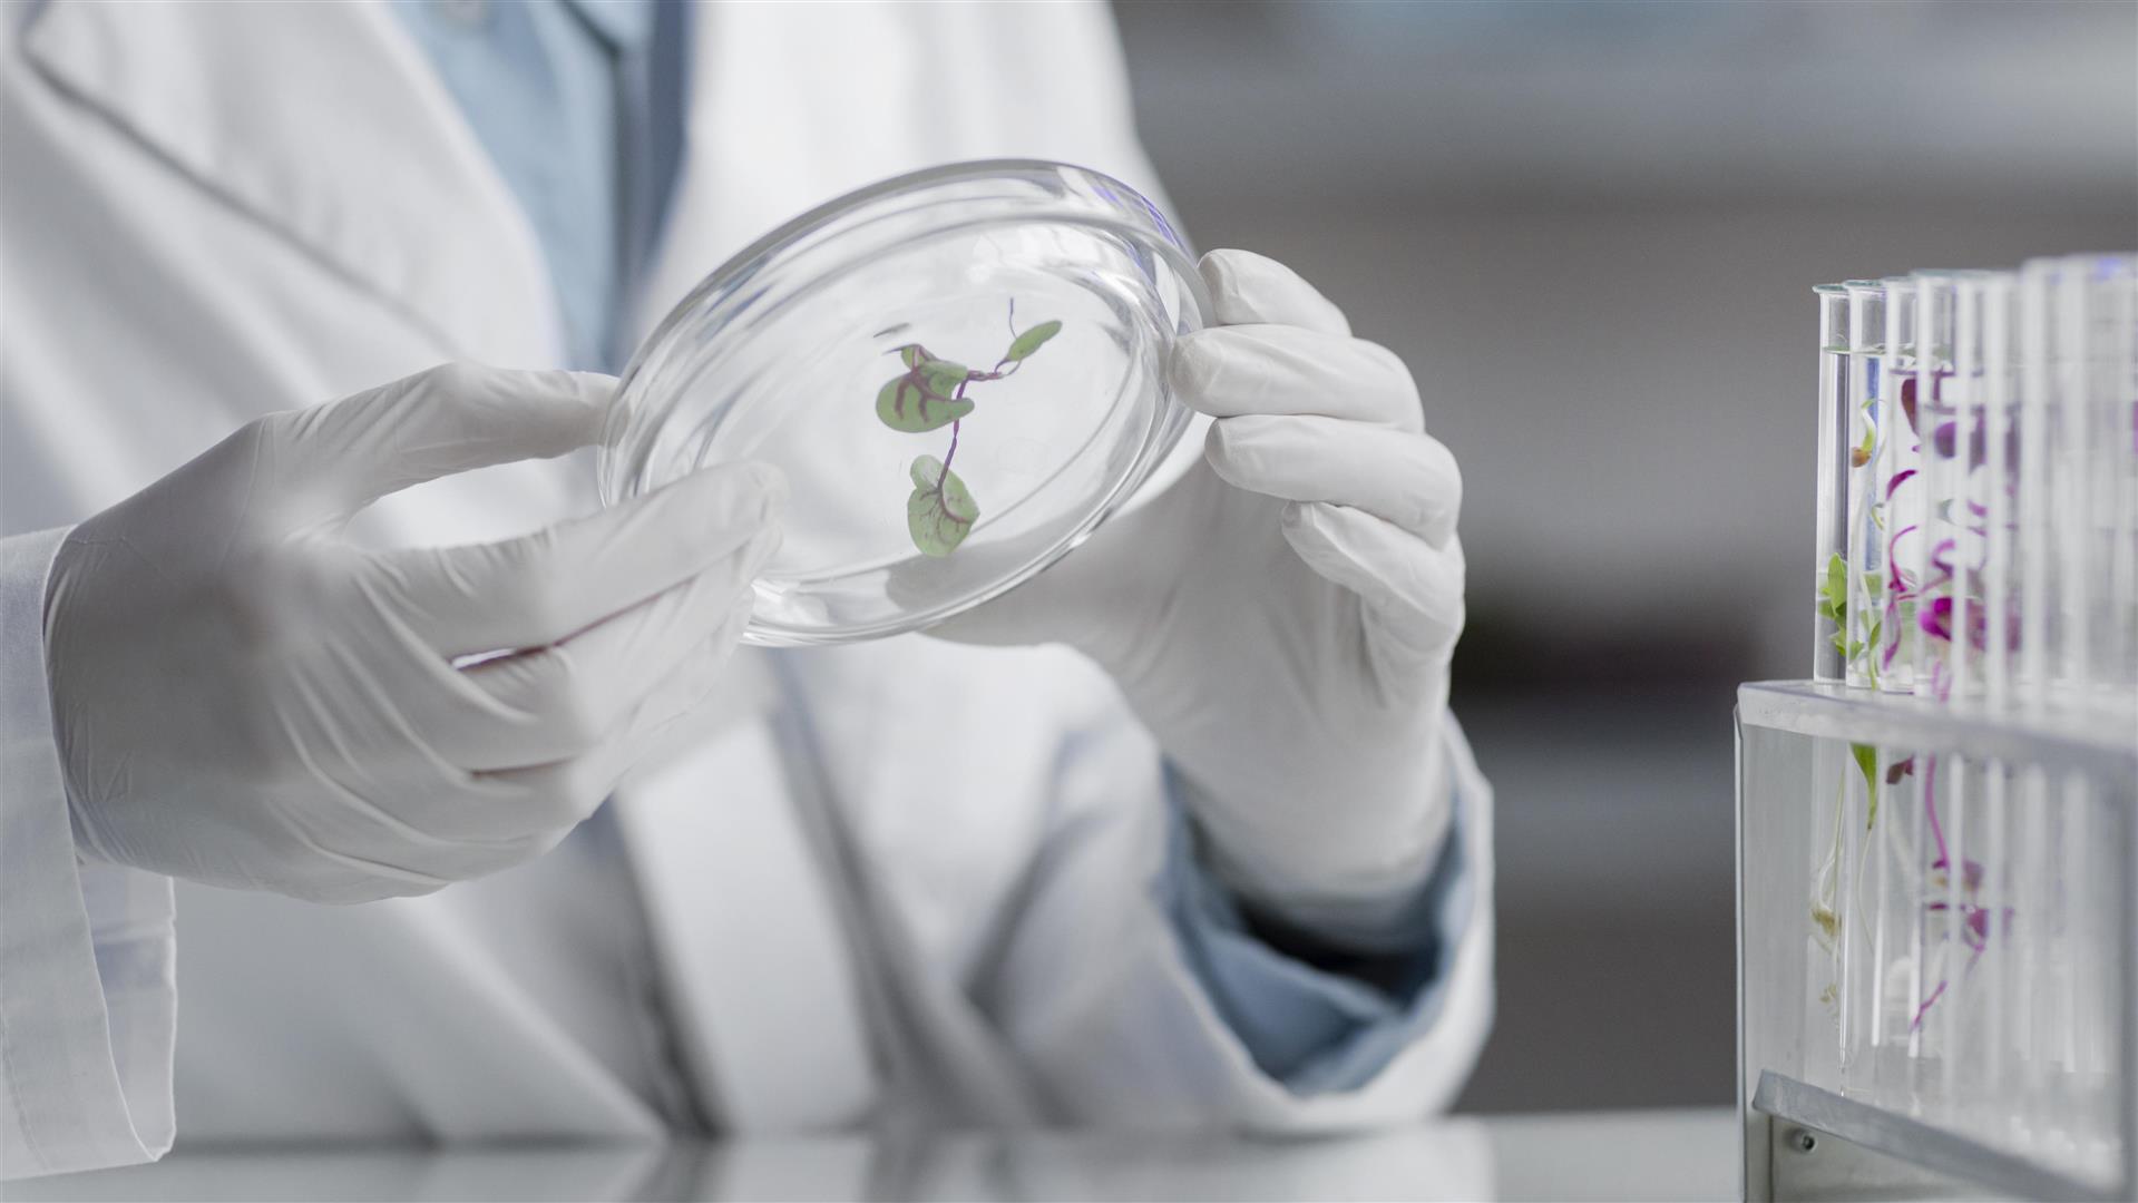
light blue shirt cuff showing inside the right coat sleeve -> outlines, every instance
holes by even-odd
[[[1377,940],[1383,949],[1370,957],[1370,972],[1360,974],[1308,964],[1257,936],[1240,902],[1197,859],[1195,827],[1178,791],[1169,795],[1159,897],[1212,1006],[1255,1064],[1293,1094],[1373,1081],[1445,1004],[1473,893],[1460,791],[1432,872],[1407,910],[1413,923],[1403,927],[1415,936]]]

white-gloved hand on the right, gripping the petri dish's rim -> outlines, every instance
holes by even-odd
[[[1217,419],[1204,457],[936,635],[1090,654],[1180,771],[1227,885],[1370,925],[1450,821],[1462,479],[1403,361],[1313,286],[1238,250],[1202,274],[1219,325],[1180,340],[1169,380]]]

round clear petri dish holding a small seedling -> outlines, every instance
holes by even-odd
[[[1163,365],[1208,306],[1172,222],[1097,171],[887,179],[735,254],[648,335],[601,496],[776,464],[785,543],[744,641],[917,630],[1067,556],[1135,494],[1189,423]]]

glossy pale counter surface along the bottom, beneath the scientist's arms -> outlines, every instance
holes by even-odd
[[[1345,1139],[1129,1132],[485,1150],[180,1150],[0,1199],[1736,1199],[1736,1120],[1456,1115]]]

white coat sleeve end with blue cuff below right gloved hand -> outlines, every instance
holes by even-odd
[[[1279,953],[1210,893],[1148,735],[1088,733],[1063,756],[992,1000],[1065,1120],[1315,1132],[1454,1100],[1492,1013],[1492,793],[1460,727],[1441,737],[1456,823],[1392,987]]]

